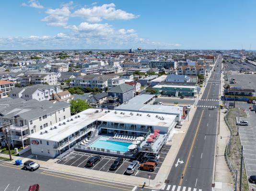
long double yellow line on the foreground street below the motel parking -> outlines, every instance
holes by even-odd
[[[56,172],[50,172],[50,171],[44,171],[44,172],[41,172],[41,174],[48,175],[48,176],[59,177],[59,178],[62,178],[62,179],[75,180],[75,181],[95,184],[95,185],[99,185],[99,186],[105,186],[105,187],[120,189],[120,190],[126,190],[126,191],[131,191],[131,190],[128,190],[128,189],[125,189],[125,188],[129,188],[129,189],[133,188],[133,187],[125,186],[125,185],[108,183],[108,182],[103,182],[103,181],[98,181],[98,180],[90,180],[90,179],[86,179],[86,178],[82,178],[82,177],[75,177],[75,176],[70,176],[70,175],[65,175],[65,174],[59,174],[59,173],[56,173]],[[104,185],[104,184],[106,184],[106,185]],[[118,188],[118,187],[115,187],[115,186],[123,187],[123,188]]]

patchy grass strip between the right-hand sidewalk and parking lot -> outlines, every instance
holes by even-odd
[[[237,169],[237,174],[238,174],[238,180],[237,182],[239,183],[239,175],[240,175],[240,159],[241,159],[241,142],[239,136],[236,136],[237,134],[237,125],[236,125],[236,118],[238,117],[238,109],[237,108],[232,108],[230,109],[228,115],[227,115],[227,120],[230,124],[230,127],[233,131],[233,137],[231,140],[231,151],[230,154],[228,155],[228,158],[233,166],[233,168]],[[243,112],[243,110],[240,110],[240,117],[247,117],[246,114]],[[242,176],[242,190],[243,191],[248,191],[249,190],[249,185],[247,181],[247,176],[245,172],[245,167],[243,164],[243,176]]]

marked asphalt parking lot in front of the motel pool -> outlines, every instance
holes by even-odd
[[[163,160],[165,159],[165,156],[167,155],[169,149],[171,146],[169,145],[164,145],[163,148],[161,149],[161,153],[159,153],[160,158],[158,165],[156,166],[155,170],[153,172],[149,171],[143,171],[143,170],[138,170],[138,168],[134,171],[133,174],[126,174],[126,170],[128,168],[128,165],[132,162],[131,159],[125,159],[123,163],[114,171],[109,170],[110,166],[113,164],[115,159],[117,157],[114,156],[107,156],[107,155],[100,155],[101,160],[98,161],[94,166],[92,167],[87,167],[86,166],[86,161],[90,159],[91,157],[98,155],[98,154],[93,154],[93,153],[87,153],[87,152],[81,152],[81,151],[72,151],[68,156],[66,156],[63,159],[60,159],[57,161],[58,164],[63,164],[63,165],[69,165],[69,166],[74,166],[74,167],[79,167],[79,168],[86,168],[86,169],[92,169],[92,170],[100,170],[104,172],[109,172],[109,173],[116,173],[116,174],[124,174],[128,176],[137,176],[137,177],[142,177],[142,178],[148,178],[149,174],[151,174],[151,180],[153,180],[159,171]],[[140,153],[136,160],[141,162],[141,158],[144,153]]]

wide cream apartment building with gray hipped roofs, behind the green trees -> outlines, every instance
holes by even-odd
[[[98,87],[100,90],[104,91],[106,87],[108,87],[108,80],[114,78],[113,76],[108,75],[99,75],[99,74],[92,74],[92,75],[84,75],[79,76],[70,82],[71,87]]]

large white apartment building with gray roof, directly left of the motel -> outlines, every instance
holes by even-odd
[[[6,99],[6,98],[4,98]],[[28,135],[70,117],[70,104],[66,102],[24,101],[7,99],[0,106],[0,140],[4,139],[2,126],[10,124],[9,138],[12,145],[30,145]]]

